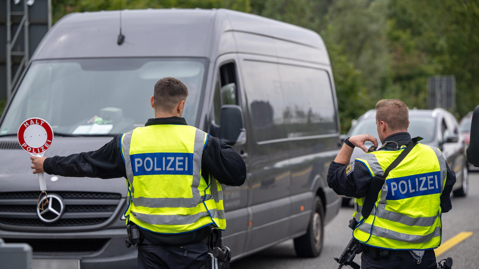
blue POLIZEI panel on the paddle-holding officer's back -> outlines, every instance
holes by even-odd
[[[139,153],[130,159],[134,176],[193,175],[193,153]]]

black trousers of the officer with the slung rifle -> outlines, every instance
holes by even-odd
[[[361,255],[361,269],[437,269],[436,255],[433,249],[426,250],[421,263],[412,258],[407,251],[398,251],[386,258],[373,258],[370,253]]]

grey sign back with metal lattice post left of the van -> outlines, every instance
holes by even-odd
[[[52,25],[51,0],[0,0],[0,7],[0,99],[8,99]]]

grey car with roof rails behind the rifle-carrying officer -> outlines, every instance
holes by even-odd
[[[468,168],[465,155],[465,142],[461,135],[459,124],[456,118],[444,109],[436,108],[434,110],[413,109],[409,111],[408,132],[412,137],[421,136],[420,143],[435,146],[443,153],[447,164],[451,170],[456,173],[456,184],[453,187],[453,194],[456,197],[466,196],[468,194]],[[348,136],[357,134],[371,134],[376,137],[378,143],[381,143],[376,131],[376,110],[372,109],[364,113],[351,130]],[[372,146],[371,142],[366,142],[365,147]],[[354,148],[351,160],[363,155],[364,152],[356,147]],[[343,197],[343,205],[350,203],[350,198]]]

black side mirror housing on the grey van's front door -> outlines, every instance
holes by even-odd
[[[219,139],[228,145],[238,146],[246,143],[243,111],[238,105],[223,105],[221,107]]]

